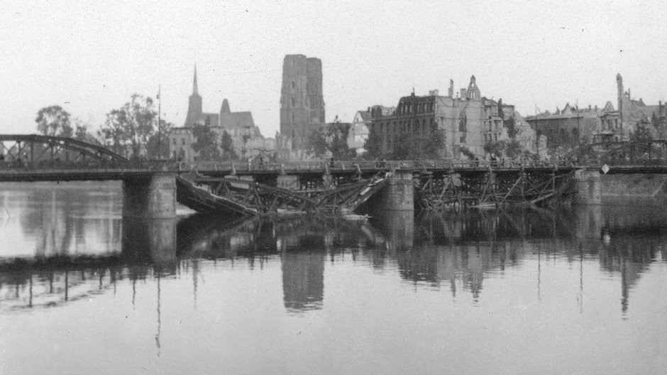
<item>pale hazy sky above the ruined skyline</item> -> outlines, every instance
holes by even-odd
[[[667,100],[660,1],[7,1],[0,2],[0,133],[35,132],[59,104],[95,129],[134,92],[182,126],[195,62],[205,112],[224,98],[279,129],[282,59],[322,60],[326,120],[458,91],[522,114],[616,107],[617,72],[646,104]]]

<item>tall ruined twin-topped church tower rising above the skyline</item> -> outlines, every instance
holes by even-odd
[[[286,55],[282,62],[280,134],[292,140],[292,148],[307,146],[314,124],[324,124],[322,62],[304,55]]]

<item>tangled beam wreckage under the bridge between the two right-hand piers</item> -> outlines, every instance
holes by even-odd
[[[414,205],[415,210],[553,206],[568,202],[574,189],[573,168],[422,172],[414,178]]]

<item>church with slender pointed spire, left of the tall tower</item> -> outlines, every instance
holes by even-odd
[[[170,154],[183,161],[197,160],[197,153],[192,149],[192,143],[197,141],[192,135],[195,125],[209,126],[217,135],[216,142],[221,143],[224,132],[227,132],[233,142],[233,149],[238,158],[266,156],[270,158],[275,150],[275,141],[264,138],[260,129],[255,126],[251,112],[231,112],[229,102],[224,99],[217,113],[207,113],[202,108],[202,96],[197,87],[197,67],[194,67],[192,94],[189,96],[187,115],[181,127],[172,128],[170,133]]]

